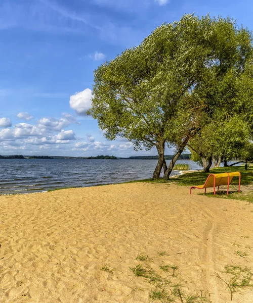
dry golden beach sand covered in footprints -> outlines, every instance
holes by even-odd
[[[185,292],[229,302],[215,275],[227,279],[227,264],[252,265],[253,205],[196,193],[130,183],[1,196],[0,302],[149,302],[153,286],[129,269],[139,252],[157,271],[162,262],[178,266]],[[253,302],[253,292],[233,302]]]

